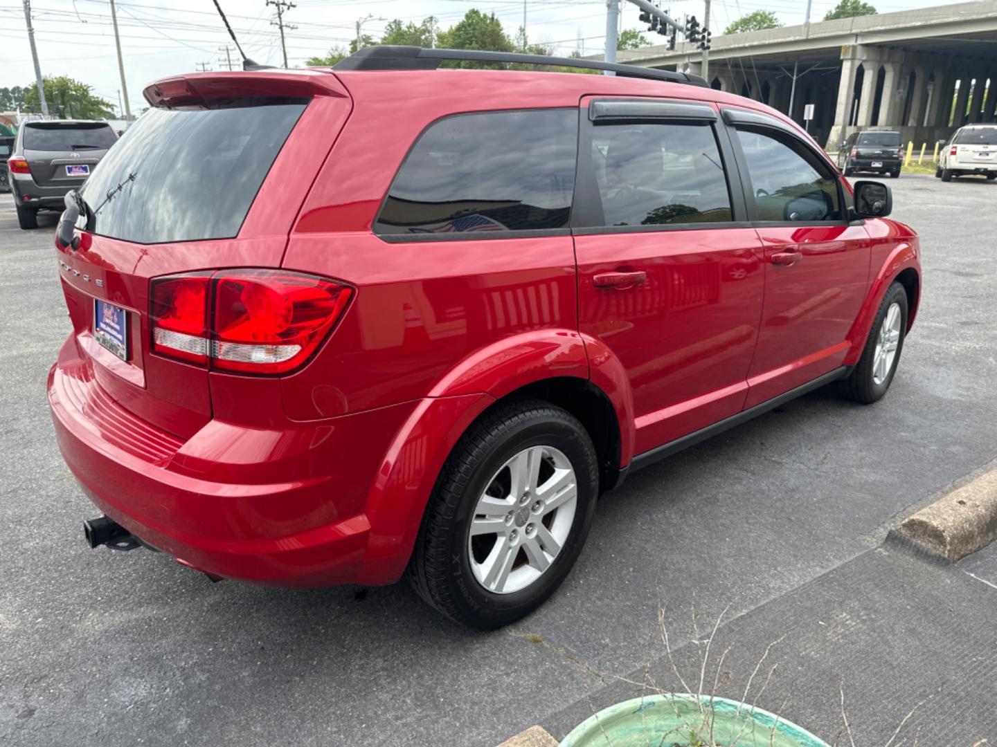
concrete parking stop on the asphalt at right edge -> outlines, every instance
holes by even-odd
[[[905,519],[900,532],[953,563],[997,539],[997,469]]]

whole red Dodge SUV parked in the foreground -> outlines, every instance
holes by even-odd
[[[375,47],[145,95],[57,237],[49,400],[93,546],[407,574],[498,626],[628,471],[831,381],[881,397],[917,308],[888,187],[692,76]]]

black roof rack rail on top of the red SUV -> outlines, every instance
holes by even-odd
[[[636,65],[585,60],[579,57],[547,57],[546,55],[521,55],[516,52],[488,52],[474,49],[424,49],[422,47],[375,46],[364,47],[333,66],[335,70],[436,70],[444,61],[508,63],[520,65],[555,65],[587,70],[611,70],[625,78],[645,78],[652,81],[685,83],[706,86],[699,76],[676,73]]]

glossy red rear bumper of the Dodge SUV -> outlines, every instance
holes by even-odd
[[[134,535],[184,565],[260,584],[401,575],[408,543],[375,543],[369,568],[367,502],[420,401],[265,430],[212,420],[182,441],[113,401],[93,367],[72,342],[60,352],[48,380],[56,435],[91,500]],[[421,509],[393,508],[418,526]]]

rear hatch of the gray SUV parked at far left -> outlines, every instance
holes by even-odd
[[[38,186],[80,186],[118,135],[106,122],[29,122],[22,147]]]

